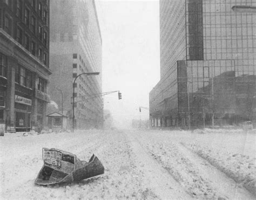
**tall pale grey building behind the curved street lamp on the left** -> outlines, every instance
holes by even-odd
[[[99,72],[77,78],[74,105],[77,128],[102,127],[102,37],[95,2],[55,0],[50,5],[51,99],[62,105],[58,90],[63,92],[64,114],[72,123],[73,81],[79,74]]]

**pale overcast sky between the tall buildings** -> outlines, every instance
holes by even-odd
[[[96,0],[103,40],[103,92],[117,127],[149,119],[149,92],[160,80],[159,1]]]

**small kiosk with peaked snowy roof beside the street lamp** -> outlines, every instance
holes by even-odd
[[[62,129],[67,128],[67,118],[68,116],[65,116],[63,114],[60,114],[58,112],[53,112],[48,117],[48,127],[52,129],[52,131],[60,131]]]

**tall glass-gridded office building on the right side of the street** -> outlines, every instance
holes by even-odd
[[[152,126],[256,119],[256,0],[160,0]]]

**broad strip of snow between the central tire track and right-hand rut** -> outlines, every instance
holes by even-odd
[[[244,188],[237,189],[235,182],[225,174],[191,154],[179,144],[179,140],[171,136],[169,141],[161,137],[151,138],[151,135],[145,138],[145,135],[138,134],[137,137],[144,141],[151,156],[194,198],[254,199]]]

